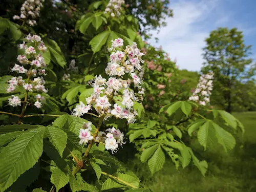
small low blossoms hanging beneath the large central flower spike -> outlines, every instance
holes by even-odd
[[[79,133],[79,144],[87,144],[88,141],[93,140],[93,136],[91,135],[92,131],[92,122],[88,121],[86,124],[84,124],[84,128],[86,129],[80,129]],[[120,132],[119,129],[115,129],[115,127],[112,127],[112,129],[107,129],[106,132],[99,132],[98,136],[96,137],[97,142],[102,142],[105,144],[106,150],[111,150],[112,154],[117,152],[118,146],[122,144],[125,144],[123,142],[124,135],[122,132]]]

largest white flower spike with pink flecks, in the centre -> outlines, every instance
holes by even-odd
[[[144,62],[141,59],[144,54],[140,52],[135,42],[131,46],[126,46],[123,51],[116,50],[120,47],[123,47],[123,39],[112,40],[112,47],[108,50],[113,52],[105,69],[106,74],[110,76],[109,79],[106,80],[101,75],[96,76],[92,83],[94,93],[86,98],[88,105],[80,102],[73,110],[73,115],[81,116],[94,106],[99,116],[104,116],[105,119],[114,116],[126,119],[128,123],[136,121],[137,112],[133,109],[133,105],[138,99],[130,86],[133,82],[134,87],[140,88],[143,83],[143,79],[137,75],[136,71],[142,69],[140,63]],[[122,79],[124,74],[129,74],[132,80]],[[114,96],[121,97],[120,103],[114,102]]]

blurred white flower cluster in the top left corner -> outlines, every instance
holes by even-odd
[[[27,19],[30,26],[36,25],[35,18],[39,17],[42,3],[45,0],[26,0],[20,8],[20,16],[14,15],[13,19]]]

